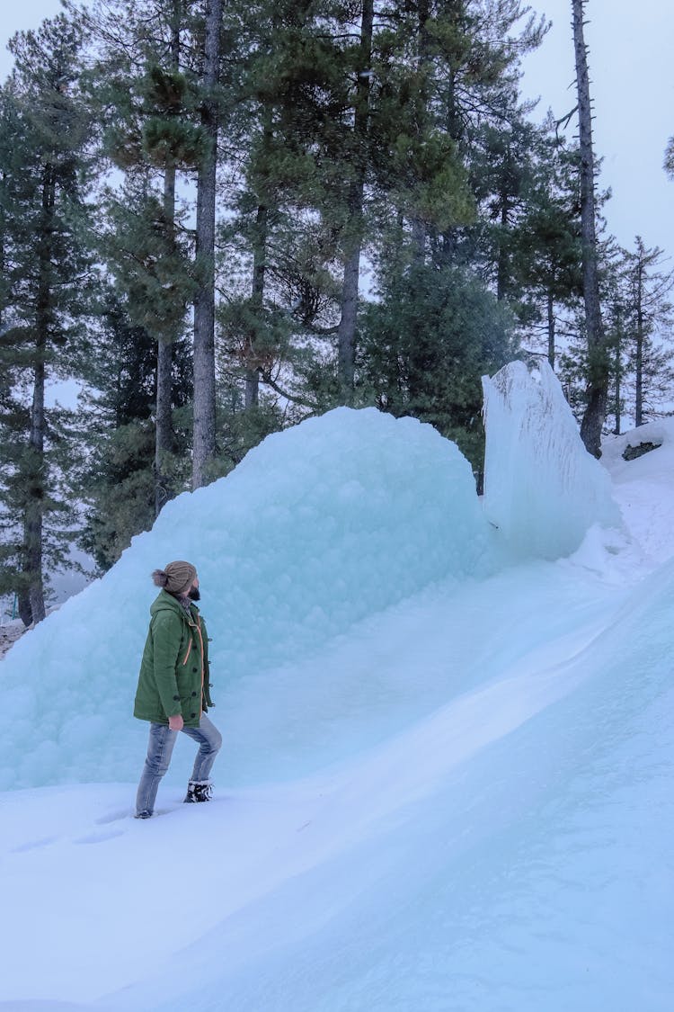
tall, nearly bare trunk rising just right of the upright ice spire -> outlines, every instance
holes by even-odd
[[[587,49],[583,34],[584,0],[572,0],[573,41],[576,56],[578,123],[580,138],[580,206],[583,246],[583,301],[588,348],[588,403],[580,427],[588,452],[601,456],[601,427],[606,417],[608,397],[608,352],[604,340],[599,305],[597,241],[594,204],[594,154],[592,150],[592,107],[587,70]]]

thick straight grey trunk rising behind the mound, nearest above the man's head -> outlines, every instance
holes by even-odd
[[[192,488],[205,485],[215,455],[215,175],[221,0],[206,0],[201,125],[208,150],[197,178],[195,259],[199,288],[194,301],[194,441]]]

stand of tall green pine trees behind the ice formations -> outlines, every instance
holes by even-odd
[[[14,36],[0,595],[26,623],[74,539],[107,569],[336,405],[431,423],[478,481],[480,377],[517,354],[579,419],[599,376],[596,431],[660,410],[671,276],[594,204],[588,232],[584,153],[520,93],[546,30],[519,0],[93,0]]]

